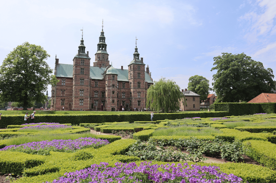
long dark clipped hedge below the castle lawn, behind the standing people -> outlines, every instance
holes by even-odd
[[[182,113],[157,113],[154,114],[154,121],[164,119],[183,119],[186,117],[225,117],[229,112],[182,112]],[[21,125],[26,123],[24,115],[4,115],[1,116],[0,128],[8,125]],[[83,115],[57,115],[57,114],[39,114],[35,116],[35,123],[60,123],[79,125],[80,123],[105,123],[105,122],[131,122],[149,121],[150,114],[83,114]]]

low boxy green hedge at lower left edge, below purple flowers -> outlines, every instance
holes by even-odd
[[[0,172],[22,175],[26,168],[36,167],[45,162],[43,155],[31,155],[26,153],[0,151]]]

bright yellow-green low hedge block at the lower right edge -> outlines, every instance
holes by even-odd
[[[272,170],[276,170],[276,144],[267,141],[244,141],[246,155]]]

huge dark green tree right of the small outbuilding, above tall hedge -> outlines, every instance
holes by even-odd
[[[272,69],[265,69],[261,62],[244,53],[222,53],[214,61],[211,71],[217,70],[212,83],[216,102],[248,102],[260,93],[271,93],[275,89]]]

